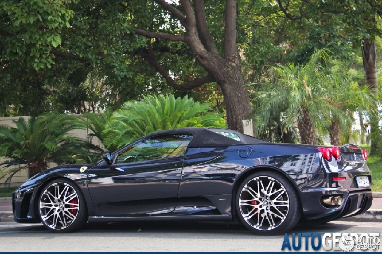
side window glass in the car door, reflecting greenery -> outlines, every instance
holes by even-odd
[[[191,139],[192,135],[189,134],[162,135],[147,138],[120,152],[115,163],[150,161],[183,155]]]

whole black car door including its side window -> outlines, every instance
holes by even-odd
[[[173,211],[191,138],[189,134],[147,138],[117,154],[112,165],[89,170],[89,192],[97,214]]]

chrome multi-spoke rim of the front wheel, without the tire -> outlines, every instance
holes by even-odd
[[[53,183],[40,198],[41,219],[50,228],[64,229],[76,219],[79,206],[78,194],[72,186]]]

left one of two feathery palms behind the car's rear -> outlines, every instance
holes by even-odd
[[[272,68],[277,82],[263,84],[255,99],[259,125],[267,124],[275,112],[280,112],[283,132],[298,127],[301,143],[315,145],[317,129],[330,122],[331,105],[319,83],[325,77],[322,63],[328,60],[325,50],[317,50],[304,66],[290,63]]]

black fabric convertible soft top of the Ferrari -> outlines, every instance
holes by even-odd
[[[217,132],[229,132],[238,135],[240,141],[233,138],[226,137]],[[145,138],[149,138],[157,135],[167,135],[176,133],[190,133],[193,135],[193,139],[188,144],[189,148],[193,147],[219,147],[219,146],[231,146],[240,145],[247,143],[266,143],[267,141],[261,140],[259,138],[254,138],[243,133],[237,132],[235,130],[228,129],[218,129],[218,128],[195,128],[195,127],[185,127],[171,130],[161,130],[153,132],[146,135]]]

